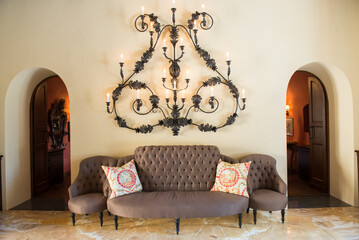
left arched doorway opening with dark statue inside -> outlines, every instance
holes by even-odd
[[[31,201],[43,201],[37,204],[40,208],[53,201],[54,210],[65,209],[71,182],[70,101],[59,76],[44,79],[34,89],[30,123]]]

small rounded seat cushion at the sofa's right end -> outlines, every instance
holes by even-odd
[[[269,189],[257,189],[249,197],[249,207],[256,210],[277,211],[288,204],[286,195]]]

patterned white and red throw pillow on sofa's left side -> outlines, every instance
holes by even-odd
[[[102,169],[105,171],[112,190],[110,199],[142,191],[142,185],[136,171],[134,160],[131,160],[121,167],[102,166]]]

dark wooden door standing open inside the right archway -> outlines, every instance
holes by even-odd
[[[329,189],[327,96],[321,81],[308,78],[310,185],[323,192]]]

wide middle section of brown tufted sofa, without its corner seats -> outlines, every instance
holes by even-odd
[[[117,166],[134,159],[143,191],[107,200],[114,215],[140,218],[174,218],[179,232],[180,218],[238,215],[248,208],[248,198],[211,192],[216,166],[220,159],[235,163],[221,155],[215,146],[144,146],[133,156],[121,158]],[[106,183],[108,184],[108,183]],[[106,188],[106,186],[105,186]],[[107,185],[108,195],[109,186]]]

